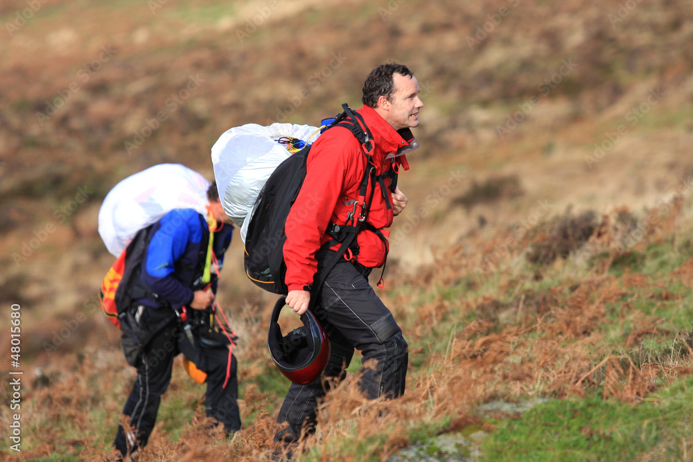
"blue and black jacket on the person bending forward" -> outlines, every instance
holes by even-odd
[[[231,243],[234,226],[225,224],[214,233],[213,251],[221,267]],[[193,301],[200,285],[209,246],[209,225],[193,208],[170,211],[152,226],[147,254],[142,262],[141,280],[156,294],[138,303],[159,308],[180,308]],[[211,289],[216,293],[216,274]]]

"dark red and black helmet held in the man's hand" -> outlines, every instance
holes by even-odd
[[[286,296],[281,296],[274,303],[270,330],[267,332],[267,348],[274,364],[286,378],[295,384],[305,385],[313,382],[325,368],[330,357],[330,341],[310,310],[301,314],[303,326],[282,336],[277,320],[285,302]]]

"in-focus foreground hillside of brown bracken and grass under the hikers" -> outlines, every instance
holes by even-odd
[[[592,231],[568,236],[566,223]],[[351,375],[299,460],[385,460],[448,432],[484,432],[484,460],[690,460],[692,229],[690,199],[649,216],[565,215],[470,236],[416,277],[394,272],[401,283],[383,298],[410,343],[405,396],[369,402]],[[268,310],[234,316],[243,430],[230,441],[205,431],[202,388],[177,366],[141,460],[267,456],[288,387],[265,350]],[[134,371],[114,346],[56,353],[24,398],[19,459],[102,460]],[[535,398],[522,416],[480,412]]]

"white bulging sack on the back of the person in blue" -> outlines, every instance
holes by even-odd
[[[98,233],[119,256],[137,231],[174,208],[194,208],[207,216],[209,181],[179,163],[161,163],[116,184],[98,211]]]

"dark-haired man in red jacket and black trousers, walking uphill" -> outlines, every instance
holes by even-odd
[[[368,282],[372,268],[385,264],[385,235],[392,219],[407,204],[396,187],[394,175],[408,170],[405,153],[419,147],[410,128],[419,125],[419,83],[402,64],[383,64],[373,69],[363,86],[361,114],[374,139],[371,152],[376,175],[365,195],[370,199],[365,226],[345,258],[321,274],[326,260],[339,245],[333,241],[333,224],[344,224],[354,210],[367,159],[360,143],[346,127],[332,127],[313,144],[307,161],[304,186],[286,220],[286,303],[303,314],[310,303],[310,288],[316,274],[324,277],[313,312],[327,333],[331,356],[322,377],[307,385],[292,384],[283,402],[279,423],[288,423],[277,441],[292,443],[315,431],[317,399],[324,396],[324,379],[343,378],[354,348],[363,355],[360,385],[365,396],[396,398],[404,393],[407,373],[407,342],[392,313]],[[371,189],[374,190],[371,191]],[[356,258],[349,258],[356,255]],[[349,258],[349,260],[347,260]]]

